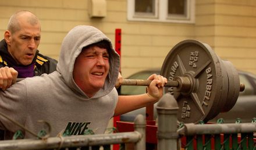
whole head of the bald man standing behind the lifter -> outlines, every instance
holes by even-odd
[[[4,34],[7,49],[18,65],[30,65],[41,39],[41,25],[33,13],[20,10],[10,17]]]

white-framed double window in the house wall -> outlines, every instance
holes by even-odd
[[[127,0],[131,21],[194,23],[194,0]]]

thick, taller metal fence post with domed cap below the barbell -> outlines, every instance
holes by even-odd
[[[179,106],[173,95],[163,95],[157,105],[158,146],[157,149],[177,149],[177,110]]]

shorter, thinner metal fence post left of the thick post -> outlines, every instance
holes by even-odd
[[[141,138],[135,144],[135,150],[145,150],[146,149],[146,121],[143,115],[137,115],[134,120],[134,131],[140,133]]]

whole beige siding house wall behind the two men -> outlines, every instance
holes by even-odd
[[[127,21],[127,0],[106,0],[104,18],[88,16],[88,0],[0,0],[0,32],[19,9],[34,12],[41,20],[40,51],[58,59],[66,33],[79,24],[102,30],[115,45],[115,29],[122,29],[123,77],[149,68],[160,68],[178,42],[193,38],[209,44],[237,69],[256,73],[256,1],[196,0],[195,23]]]

